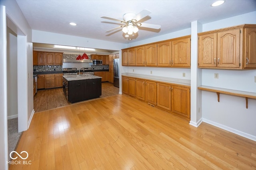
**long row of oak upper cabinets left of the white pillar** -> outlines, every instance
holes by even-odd
[[[190,35],[123,49],[122,65],[190,68]]]

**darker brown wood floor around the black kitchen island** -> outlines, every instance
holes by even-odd
[[[102,95],[100,98],[113,96],[118,94],[119,88],[115,87],[110,82],[102,83]],[[94,100],[94,99],[92,99]],[[46,90],[38,90],[34,96],[34,110],[35,112],[55,109],[62,106],[68,106],[71,103],[66,100],[62,88],[53,88]]]

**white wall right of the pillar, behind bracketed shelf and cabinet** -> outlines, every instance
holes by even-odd
[[[225,20],[203,24],[203,31],[210,31],[244,23],[256,24],[256,11]],[[219,78],[214,78],[219,73]],[[202,69],[202,85],[256,92],[256,70]],[[214,92],[202,92],[203,121],[256,141],[256,100],[220,94],[220,102]]]

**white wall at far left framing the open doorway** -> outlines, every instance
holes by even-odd
[[[1,159],[0,169],[7,170],[8,164],[8,135],[7,135],[7,54],[6,54],[6,27],[8,26],[14,33],[17,34],[17,58],[22,61],[17,61],[18,67],[18,129],[19,131],[27,130],[28,128],[28,116],[32,117],[33,113],[33,64],[32,64],[32,30],[28,25],[25,17],[23,16],[16,1],[1,0],[0,1],[0,87],[1,90]],[[6,21],[7,20],[7,21]],[[30,59],[31,61],[28,61]],[[31,63],[31,64],[30,64]],[[28,65],[29,64],[29,65]],[[21,68],[21,69],[20,69]],[[31,92],[30,92],[31,90]],[[4,101],[2,101],[4,100]],[[32,106],[31,106],[32,105]],[[24,109],[25,108],[25,109]],[[20,119],[21,118],[21,119]],[[21,120],[21,121],[20,121]],[[25,121],[24,121],[25,120]]]

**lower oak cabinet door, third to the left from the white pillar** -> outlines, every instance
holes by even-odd
[[[156,82],[146,81],[146,88],[145,88],[146,102],[156,105],[156,97],[157,97],[156,89],[157,89]]]

